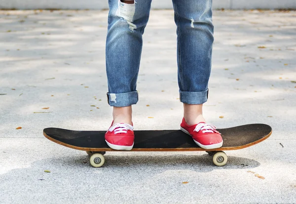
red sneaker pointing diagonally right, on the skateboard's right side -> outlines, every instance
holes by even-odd
[[[183,118],[181,130],[190,135],[193,141],[204,149],[215,149],[223,145],[223,140],[220,132],[212,124],[200,122],[189,126]]]

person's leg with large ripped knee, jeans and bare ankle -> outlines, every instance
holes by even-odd
[[[151,0],[109,0],[106,68],[108,103],[115,123],[132,124],[131,105],[138,102],[136,83],[142,52],[142,35]]]

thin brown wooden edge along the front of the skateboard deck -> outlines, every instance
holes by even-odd
[[[266,135],[265,137],[261,138],[260,140],[257,140],[253,143],[249,143],[247,145],[243,145],[243,146],[230,146],[230,147],[221,147],[221,148],[216,148],[216,149],[203,149],[201,147],[198,148],[133,148],[132,150],[129,151],[224,151],[224,150],[237,150],[237,149],[243,149],[243,148],[247,148],[249,146],[254,146],[264,140],[266,140],[267,138],[269,138],[269,136],[272,134],[272,130],[271,132]],[[50,141],[57,143],[59,145],[62,146],[66,146],[72,149],[77,149],[77,150],[82,150],[82,151],[126,151],[126,150],[116,150],[116,149],[111,149],[111,148],[89,148],[89,147],[78,147],[78,146],[72,146],[72,145],[68,145],[66,143],[60,142],[58,140],[55,140],[51,137],[49,137],[48,135],[46,135],[46,133],[43,131],[43,135]]]

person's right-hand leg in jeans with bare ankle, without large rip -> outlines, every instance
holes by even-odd
[[[180,100],[185,121],[205,121],[202,104],[208,99],[214,26],[212,0],[173,0],[177,25]]]

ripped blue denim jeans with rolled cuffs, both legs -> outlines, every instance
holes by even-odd
[[[151,0],[133,4],[109,0],[106,68],[110,106],[130,106],[139,100],[136,86],[150,5]],[[208,99],[214,41],[212,0],[173,0],[173,5],[180,100],[203,104]]]

